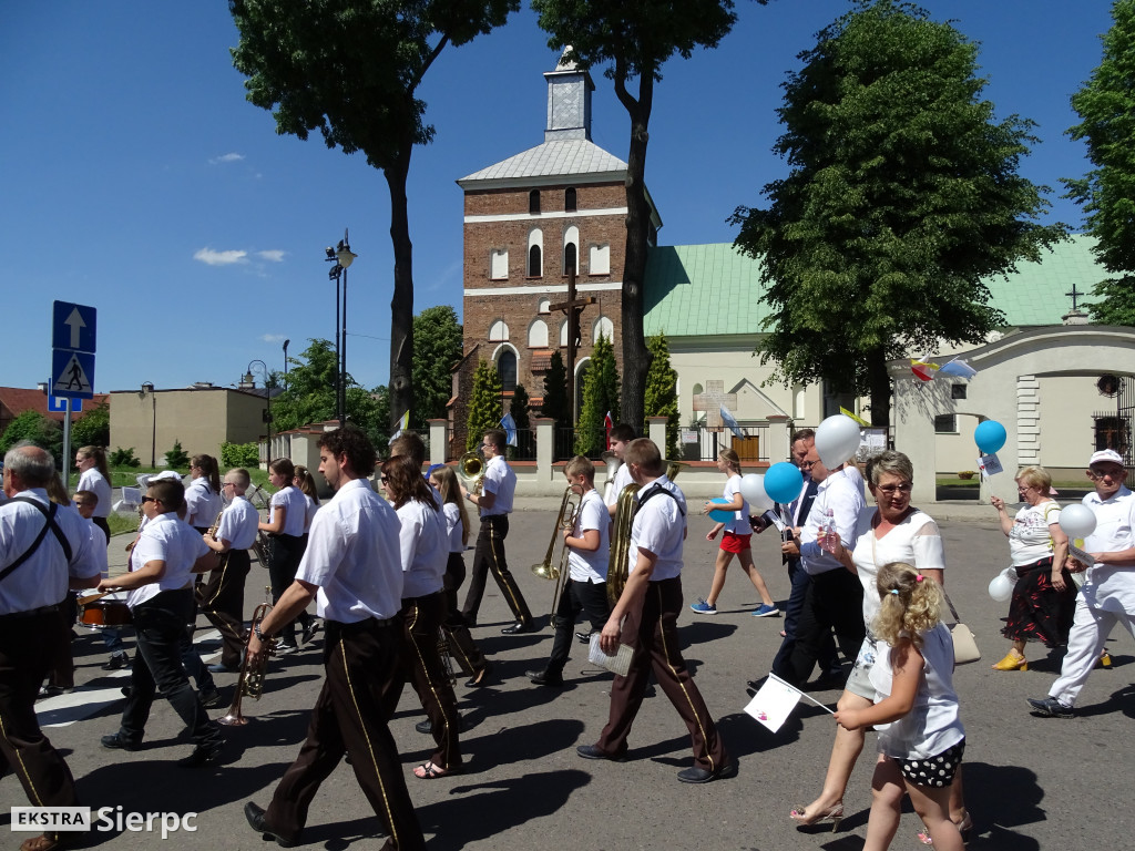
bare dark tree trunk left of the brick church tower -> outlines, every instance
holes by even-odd
[[[394,245],[394,295],[390,298],[390,433],[398,428],[402,414],[413,404],[412,370],[414,356],[414,276],[413,243],[410,242],[410,216],[406,210],[406,176],[410,174],[411,144],[404,146],[396,167],[384,169],[390,188],[390,242]]]

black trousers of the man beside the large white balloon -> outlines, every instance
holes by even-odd
[[[843,656],[855,659],[867,634],[863,623],[863,583],[843,567],[812,576],[784,680],[802,688],[816,662],[823,657],[833,631]]]

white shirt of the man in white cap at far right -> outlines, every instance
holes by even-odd
[[[1095,514],[1095,531],[1084,540],[1085,551],[1118,553],[1135,547],[1135,495],[1126,486],[1108,500],[1088,494],[1084,505]],[[1079,592],[1091,608],[1135,614],[1135,567],[1096,564],[1088,568]]]

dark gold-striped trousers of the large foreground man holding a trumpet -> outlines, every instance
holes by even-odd
[[[327,621],[325,627],[327,676],[311,710],[308,739],[276,786],[264,820],[278,836],[299,840],[320,784],[348,753],[355,780],[389,836],[382,848],[424,849],[385,709],[402,690],[402,624],[370,618]]]

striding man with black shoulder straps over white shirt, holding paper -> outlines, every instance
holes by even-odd
[[[686,539],[686,497],[665,475],[658,447],[639,438],[627,448],[627,466],[639,485],[638,512],[631,526],[627,585],[603,627],[599,643],[608,656],[619,644],[631,648],[627,676],[611,686],[611,714],[595,744],[581,744],[586,759],[621,760],[627,738],[654,672],[658,685],[686,722],[693,743],[693,765],[678,773],[682,783],[708,783],[737,773],[717,727],[693,684],[678,640],[682,610],[682,546]],[[625,618],[625,620],[624,620]]]

